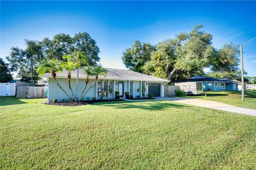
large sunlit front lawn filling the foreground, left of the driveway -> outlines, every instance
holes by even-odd
[[[1,98],[0,169],[256,169],[256,117],[169,101]]]

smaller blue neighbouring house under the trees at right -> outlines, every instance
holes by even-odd
[[[237,91],[237,84],[238,84],[238,82],[229,80],[227,78],[195,76],[195,77],[187,79],[183,82],[175,83],[175,85],[188,86],[186,91],[191,91],[189,89],[189,85],[191,83],[196,83],[196,82],[197,83],[202,82],[204,91],[206,91],[206,90],[209,90],[209,91]],[[193,94],[195,94],[195,93],[193,92]]]

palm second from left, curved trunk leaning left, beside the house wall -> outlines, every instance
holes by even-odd
[[[72,88],[71,88],[70,80],[71,80],[71,71],[72,71],[72,70],[75,70],[75,69],[76,69],[77,67],[79,67],[80,65],[79,65],[79,63],[76,63],[76,62],[74,62],[74,61],[72,60],[72,56],[71,56],[71,55],[63,55],[62,58],[63,58],[64,60],[67,60],[67,61],[62,61],[62,62],[60,63],[60,67],[61,67],[62,69],[65,69],[65,70],[68,71],[68,87],[69,87],[69,89],[70,89],[70,91],[71,91],[71,94],[73,95],[73,98],[74,98],[74,100],[75,100],[75,102],[76,102],[76,97],[75,97],[75,95],[74,95],[74,93],[73,93],[73,90],[72,90]]]

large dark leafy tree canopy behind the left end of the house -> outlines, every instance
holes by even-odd
[[[33,78],[35,83],[40,78],[36,72],[42,60],[63,60],[63,55],[73,52],[84,52],[91,66],[95,66],[100,60],[99,47],[88,33],[78,33],[74,37],[68,34],[57,34],[52,39],[44,38],[42,41],[31,41],[25,39],[26,48],[12,47],[10,55],[6,59],[10,63],[11,71],[17,71],[18,76],[25,82],[30,82],[30,61],[33,61]]]

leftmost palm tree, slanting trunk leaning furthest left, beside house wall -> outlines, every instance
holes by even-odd
[[[55,83],[59,86],[60,90],[67,96],[68,100],[71,101],[69,95],[67,92],[61,87],[59,82],[56,79],[56,71],[61,71],[61,68],[59,67],[59,62],[57,60],[49,60],[49,61],[41,61],[41,64],[37,68],[37,72],[39,75],[43,75],[47,72],[51,72],[53,79],[55,80]]]

